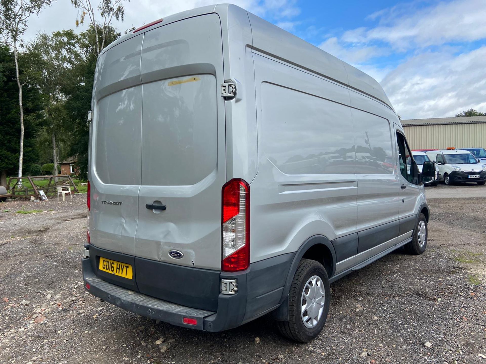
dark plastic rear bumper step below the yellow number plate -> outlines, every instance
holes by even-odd
[[[83,259],[83,280],[85,282],[85,288],[92,295],[135,314],[168,322],[173,325],[203,330],[204,318],[216,314],[212,311],[199,310],[167,302],[103,281],[94,274],[89,264],[89,259]],[[87,288],[87,284],[89,284],[89,289]],[[185,324],[183,322],[183,318],[185,317],[196,319],[197,324]]]

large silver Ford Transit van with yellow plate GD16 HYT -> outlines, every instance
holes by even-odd
[[[85,287],[133,313],[308,342],[330,282],[427,246],[434,166],[380,84],[237,6],[110,44],[89,115]]]

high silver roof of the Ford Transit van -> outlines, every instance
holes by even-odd
[[[106,52],[117,44],[141,33],[148,32],[175,21],[210,13],[217,13],[220,18],[223,17],[227,20],[226,22],[222,21],[223,33],[225,33],[224,28],[228,29],[242,26],[241,24],[245,24],[244,18],[248,17],[250,19],[253,37],[253,44],[251,45],[252,49],[275,56],[285,62],[346,85],[350,89],[360,91],[381,101],[395,112],[390,100],[383,91],[382,86],[371,76],[346,62],[341,61],[328,52],[313,46],[294,34],[288,33],[287,31],[278,28],[276,25],[233,4],[208,5],[174,14],[169,17],[164,17],[162,22],[142,29],[135,34],[131,32],[121,36],[119,39],[108,45],[103,52]]]

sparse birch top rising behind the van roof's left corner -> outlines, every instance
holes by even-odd
[[[98,57],[107,45],[106,36],[112,29],[113,19],[123,20],[125,15],[123,0],[101,0],[97,7],[93,7],[92,0],[71,0],[71,3],[78,9],[80,15],[80,19],[76,20],[76,26],[84,24],[87,20],[94,30]]]

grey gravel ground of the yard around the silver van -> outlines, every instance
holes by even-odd
[[[427,251],[398,250],[333,283],[310,344],[283,339],[267,317],[207,333],[91,296],[85,199],[0,203],[0,363],[486,364],[485,198],[431,199]]]

